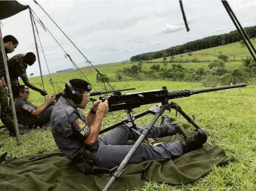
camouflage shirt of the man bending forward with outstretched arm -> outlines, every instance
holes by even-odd
[[[19,76],[26,73],[27,63],[24,63],[24,54],[18,54],[8,60],[8,69],[10,74],[10,84],[12,91],[16,94],[16,87],[20,85]]]

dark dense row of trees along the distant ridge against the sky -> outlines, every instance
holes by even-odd
[[[256,37],[256,26],[244,28],[249,38]],[[161,58],[163,54],[168,56],[179,55],[181,53],[187,53],[192,51],[199,51],[202,49],[212,48],[216,46],[226,45],[233,42],[239,42],[242,38],[237,30],[230,31],[229,33],[212,35],[195,41],[187,42],[183,45],[172,46],[162,51],[142,53],[140,55],[131,56],[131,62],[137,62],[139,60],[152,60]]]

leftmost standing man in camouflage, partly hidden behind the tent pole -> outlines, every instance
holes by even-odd
[[[5,46],[5,56],[6,59],[8,59],[7,54],[12,53],[15,51],[15,48],[17,48],[17,45],[19,42],[15,37],[12,35],[6,35],[3,37],[3,44]],[[5,125],[6,128],[9,130],[10,136],[15,136],[15,126],[13,124],[13,118],[12,118],[12,110],[10,109],[10,106],[8,104],[8,86],[5,82],[5,66],[3,63],[3,57],[2,52],[0,52],[0,118],[2,123]]]

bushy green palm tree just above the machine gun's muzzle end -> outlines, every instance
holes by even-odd
[[[246,74],[243,69],[232,68],[227,71],[226,74],[221,76],[221,82],[223,85],[238,84],[246,80]]]

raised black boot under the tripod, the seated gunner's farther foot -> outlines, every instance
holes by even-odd
[[[160,131],[159,137],[175,135],[177,132],[179,132],[179,128],[174,127],[172,124],[170,124],[170,122],[172,122],[170,117],[163,115],[161,125],[154,125],[155,128],[159,129]]]

